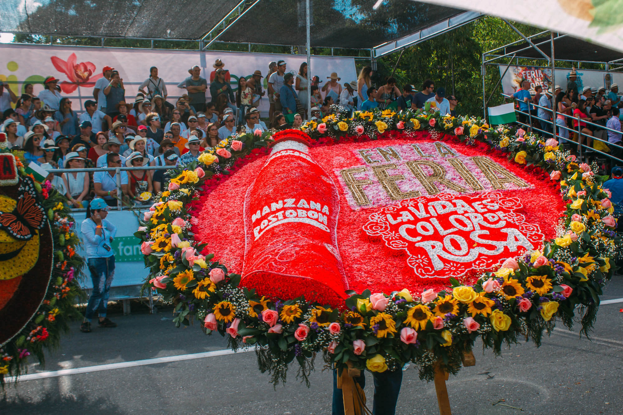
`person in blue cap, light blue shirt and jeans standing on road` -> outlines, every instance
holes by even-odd
[[[112,242],[117,234],[117,227],[107,221],[108,205],[102,198],[93,199],[87,206],[87,218],[82,221],[80,232],[87,251],[87,265],[93,281],[93,292],[88,297],[80,332],[91,332],[91,320],[97,311],[98,327],[117,327],[117,323],[106,317],[108,290],[115,275],[115,251]]]

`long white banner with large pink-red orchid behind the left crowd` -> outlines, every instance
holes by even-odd
[[[174,104],[179,96],[186,93],[185,89],[178,88],[177,85],[189,76],[188,69],[199,65],[201,77],[209,83],[210,73],[214,70],[212,65],[216,59],[221,59],[225,69],[229,70],[231,87],[235,93],[239,77],[249,79],[255,70],[262,71],[265,77],[269,62],[285,60],[287,72],[297,74],[307,57],[248,52],[0,44],[0,80],[8,81],[19,97],[26,83],[32,83],[34,94],[39,95],[43,90],[43,80],[52,75],[60,80],[61,95],[72,98],[72,108],[82,112],[85,100],[93,99],[93,86],[102,77],[104,66],[119,71],[126,88],[126,102],[130,103],[134,102],[138,87],[149,77],[150,67],[155,66],[158,67],[158,76],[166,83],[168,101]],[[326,82],[331,72],[338,73],[341,83],[357,80],[354,58],[312,56],[312,76],[318,75],[320,80]],[[266,78],[262,79],[262,85],[267,90]],[[207,101],[210,100],[209,94],[208,88]],[[262,98],[259,108],[262,115],[267,116],[268,93]]]

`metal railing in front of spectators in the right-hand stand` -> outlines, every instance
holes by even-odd
[[[505,97],[505,98],[507,98],[507,99],[513,99],[513,100],[515,100],[516,102],[519,102],[519,103],[525,103],[524,101],[521,101],[521,100],[519,100],[519,99],[517,99],[517,98],[511,97],[510,95],[506,95],[505,93],[500,93],[500,95],[502,95],[503,97]],[[552,102],[552,103],[554,103],[554,99],[553,99],[553,98],[551,99],[551,102]],[[528,116],[528,122],[529,122],[529,124],[526,124],[526,123],[522,123],[522,122],[520,122],[520,121],[517,121],[517,123],[518,123],[518,124],[525,125],[526,127],[530,128],[530,130],[533,130],[533,131],[534,131],[534,130],[536,130],[536,131],[540,131],[541,133],[545,134],[546,136],[547,136],[547,135],[551,135],[551,136],[553,136],[554,138],[556,138],[556,140],[558,140],[558,137],[559,137],[559,135],[556,133],[556,130],[557,130],[558,128],[562,128],[562,129],[564,129],[564,130],[568,131],[568,133],[578,133],[578,143],[577,143],[577,145],[578,145],[578,147],[579,147],[579,156],[580,156],[580,157],[582,157],[582,148],[587,148],[587,149],[590,149],[592,152],[600,153],[600,154],[602,154],[602,155],[604,155],[604,156],[606,156],[606,157],[608,157],[608,158],[611,158],[612,160],[617,160],[617,161],[619,161],[620,163],[623,163],[623,160],[621,160],[620,158],[617,158],[617,157],[613,156],[612,154],[609,154],[609,153],[604,153],[604,151],[596,150],[595,148],[592,148],[591,146],[587,146],[587,145],[585,145],[585,144],[581,143],[581,141],[582,141],[582,140],[581,140],[581,137],[582,137],[582,136],[586,136],[586,134],[584,134],[584,135],[583,135],[583,133],[582,133],[582,128],[583,128],[583,127],[581,126],[581,123],[579,122],[579,117],[573,117],[573,115],[567,115],[567,114],[565,114],[565,113],[558,112],[558,110],[556,110],[556,108],[554,108],[554,110],[552,110],[552,108],[548,108],[548,107],[541,107],[541,105],[537,105],[537,104],[535,104],[535,103],[533,103],[533,102],[529,102],[528,104],[529,104],[529,105],[528,105],[528,112],[523,112],[523,111],[521,111],[521,110],[518,110],[518,109],[514,108],[516,113],[520,113],[520,114],[524,114],[524,115],[527,115],[527,116]],[[543,119],[543,118],[539,118],[539,117],[537,117],[539,122],[543,121],[543,122],[545,122],[546,124],[548,124],[548,125],[551,125],[551,126],[552,126],[552,131],[551,131],[551,132],[550,132],[550,131],[545,131],[545,130],[542,130],[541,128],[535,127],[535,126],[533,125],[533,122],[532,122],[533,115],[530,113],[530,106],[535,107],[535,108],[541,108],[542,110],[545,110],[546,112],[551,113],[551,115],[552,115],[552,120],[545,120],[545,119]],[[589,114],[589,115],[590,115],[590,114]],[[567,118],[571,118],[572,120],[576,120],[576,121],[578,121],[578,129],[577,129],[577,130],[575,130],[575,129],[573,129],[573,128],[569,128],[568,126],[566,126],[566,123],[565,123],[565,125],[559,125],[559,124],[557,124],[557,123],[556,123],[556,118],[557,118],[558,116],[562,116],[562,117],[564,117],[564,118],[565,118],[565,120],[566,120]],[[609,128],[609,127],[607,127],[607,126],[605,126],[605,125],[596,124],[596,123],[594,123],[594,122],[590,122],[590,121],[583,121],[583,123],[586,123],[586,125],[592,125],[592,126],[595,126],[595,127],[596,127],[597,129],[599,129],[599,130],[612,131],[613,133],[617,133],[617,134],[622,134],[622,133],[623,133],[622,131],[613,130],[612,128]],[[573,142],[573,143],[575,143],[575,141],[571,138],[571,135],[569,135],[569,138],[564,138],[564,137],[561,137],[561,138],[562,138],[563,140],[569,141],[569,143],[572,143],[572,142]],[[603,140],[602,138],[599,138],[599,137],[596,137],[596,136],[591,136],[591,140],[601,141],[602,143],[604,143],[604,145],[606,145],[606,146],[608,146],[608,147],[618,147],[618,148],[621,148],[621,149],[623,150],[623,146],[622,146],[622,145],[618,145],[618,144],[615,144],[615,143],[610,143],[609,141],[607,141],[607,139],[606,139],[606,140]]]

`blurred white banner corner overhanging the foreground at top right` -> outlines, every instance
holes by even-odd
[[[417,0],[544,27],[623,51],[619,1],[591,0]]]

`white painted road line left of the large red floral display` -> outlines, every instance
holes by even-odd
[[[55,370],[49,372],[41,372],[41,373],[31,373],[24,374],[19,376],[17,381],[28,381],[34,379],[45,379],[45,378],[55,378],[57,376],[67,376],[68,374],[78,374],[78,373],[89,373],[89,372],[98,372],[102,370],[113,370],[113,369],[123,369],[123,368],[131,368],[134,366],[145,366],[145,365],[156,365],[157,363],[168,363],[169,361],[181,361],[181,360],[192,360],[192,359],[202,359],[212,356],[224,356],[224,355],[232,355],[234,353],[247,353],[247,351],[254,351],[255,348],[241,348],[237,352],[232,350],[214,350],[214,351],[206,351],[204,353],[193,353],[191,355],[177,355],[177,356],[166,356],[162,358],[153,358],[153,359],[145,359],[145,360],[133,360],[133,361],[122,361],[120,363],[109,363],[108,365],[97,365],[97,366],[85,366],[83,368],[73,368],[73,369],[64,369],[64,370]],[[11,383],[15,381],[14,377],[5,378],[6,383]]]

